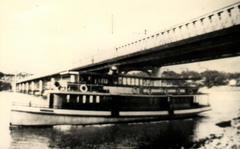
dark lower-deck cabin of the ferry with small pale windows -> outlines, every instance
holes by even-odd
[[[52,92],[49,108],[95,111],[161,111],[201,107],[207,98],[198,95],[141,95],[81,92]],[[205,102],[203,105],[208,105]]]

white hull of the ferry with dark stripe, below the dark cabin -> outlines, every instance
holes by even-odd
[[[173,117],[194,116],[200,112],[208,110],[210,110],[210,107],[175,110]],[[171,117],[169,116],[168,111],[120,111],[119,117],[111,117],[110,111],[84,111],[13,106],[11,112],[11,125],[89,125],[130,121],[150,121],[169,118]]]

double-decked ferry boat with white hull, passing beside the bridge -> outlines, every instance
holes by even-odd
[[[186,118],[210,110],[189,78],[66,71],[19,81],[11,125],[89,125]],[[171,82],[181,82],[177,85]],[[170,82],[170,83],[169,83]]]

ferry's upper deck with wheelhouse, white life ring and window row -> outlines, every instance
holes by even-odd
[[[93,72],[72,73],[70,78],[71,81],[68,81],[65,87],[68,91],[103,93],[122,91],[133,94],[196,94],[198,86],[186,82],[199,79],[109,75]]]

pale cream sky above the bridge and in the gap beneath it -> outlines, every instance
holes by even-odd
[[[94,55],[238,0],[0,0],[0,71],[34,74]],[[240,72],[240,57],[171,66]]]

